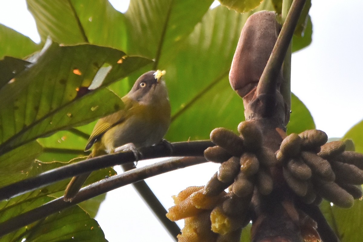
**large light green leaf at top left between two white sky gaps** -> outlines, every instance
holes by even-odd
[[[122,13],[108,1],[27,0],[42,41],[50,36],[64,44],[88,42],[126,50],[126,26]]]

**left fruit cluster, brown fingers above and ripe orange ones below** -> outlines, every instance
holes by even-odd
[[[211,132],[217,146],[207,148],[207,160],[221,163],[205,186],[189,187],[174,197],[167,217],[185,218],[178,241],[239,241],[254,187],[264,195],[273,189],[269,168],[277,164],[275,153],[262,147],[262,134],[252,122],[238,126],[240,136],[225,128]],[[228,188],[228,193],[224,190]]]

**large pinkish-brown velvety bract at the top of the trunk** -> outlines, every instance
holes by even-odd
[[[280,30],[275,12],[260,11],[247,19],[229,71],[229,83],[240,97],[256,88]]]

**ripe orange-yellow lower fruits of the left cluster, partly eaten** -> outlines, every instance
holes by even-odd
[[[239,242],[242,227],[250,219],[246,204],[251,198],[241,199],[225,191],[215,196],[203,193],[204,186],[191,186],[174,196],[175,206],[166,216],[177,221],[184,219],[179,242]]]

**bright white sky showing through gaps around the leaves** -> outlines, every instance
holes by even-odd
[[[121,12],[129,4],[110,2]],[[342,137],[363,119],[362,9],[362,0],[312,0],[313,42],[292,56],[291,90],[309,108],[317,129],[329,137]],[[0,0],[0,23],[40,42],[25,0]],[[198,165],[146,181],[168,208],[173,205],[171,195],[204,185],[216,169],[216,164]],[[173,241],[132,186],[108,193],[96,220],[110,242]]]

